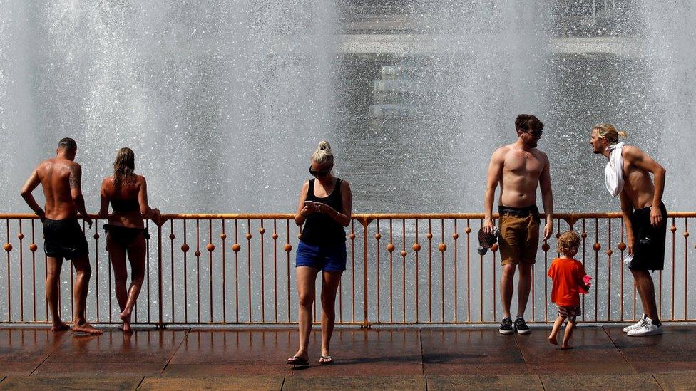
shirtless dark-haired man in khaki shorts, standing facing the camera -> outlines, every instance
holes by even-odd
[[[500,213],[501,301],[503,321],[500,333],[530,332],[524,321],[529,291],[532,285],[532,266],[536,261],[539,244],[539,211],[536,207],[536,189],[541,187],[541,199],[546,212],[543,240],[553,231],[553,194],[548,157],[536,148],[541,138],[543,123],[534,115],[521,114],[515,120],[517,141],[493,152],[488,165],[483,229],[493,233],[493,197],[500,183],[498,199]],[[513,323],[510,304],[514,291],[515,270],[520,271],[517,291],[517,317]]]

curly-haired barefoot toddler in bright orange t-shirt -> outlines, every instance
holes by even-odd
[[[564,232],[558,237],[558,252],[563,256],[554,259],[548,268],[548,276],[553,281],[551,301],[558,306],[558,318],[553,322],[548,342],[558,345],[558,330],[561,329],[563,320],[567,320],[561,349],[572,348],[568,341],[573,335],[577,317],[581,314],[580,290],[586,292],[590,289],[590,283],[585,283],[585,267],[580,261],[573,259],[578,254],[579,247],[580,236],[573,231]]]

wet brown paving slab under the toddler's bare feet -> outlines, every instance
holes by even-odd
[[[615,348],[611,338],[599,326],[583,326],[573,330],[570,345],[573,349],[561,350],[548,343],[551,328],[533,328],[532,333],[515,335],[528,370],[536,374],[624,374],[633,367]],[[563,339],[564,328],[558,335]]]

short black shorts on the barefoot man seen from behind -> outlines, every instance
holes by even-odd
[[[44,220],[46,256],[76,259],[88,254],[87,239],[77,219]]]

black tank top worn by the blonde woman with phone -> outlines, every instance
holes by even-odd
[[[321,202],[343,213],[343,199],[341,198],[341,179],[336,178],[334,191],[327,197],[319,198],[314,195],[314,179],[309,179],[307,189],[307,201]],[[346,231],[332,217],[325,213],[312,213],[305,219],[302,227],[302,241],[314,246],[333,245],[346,241]]]

